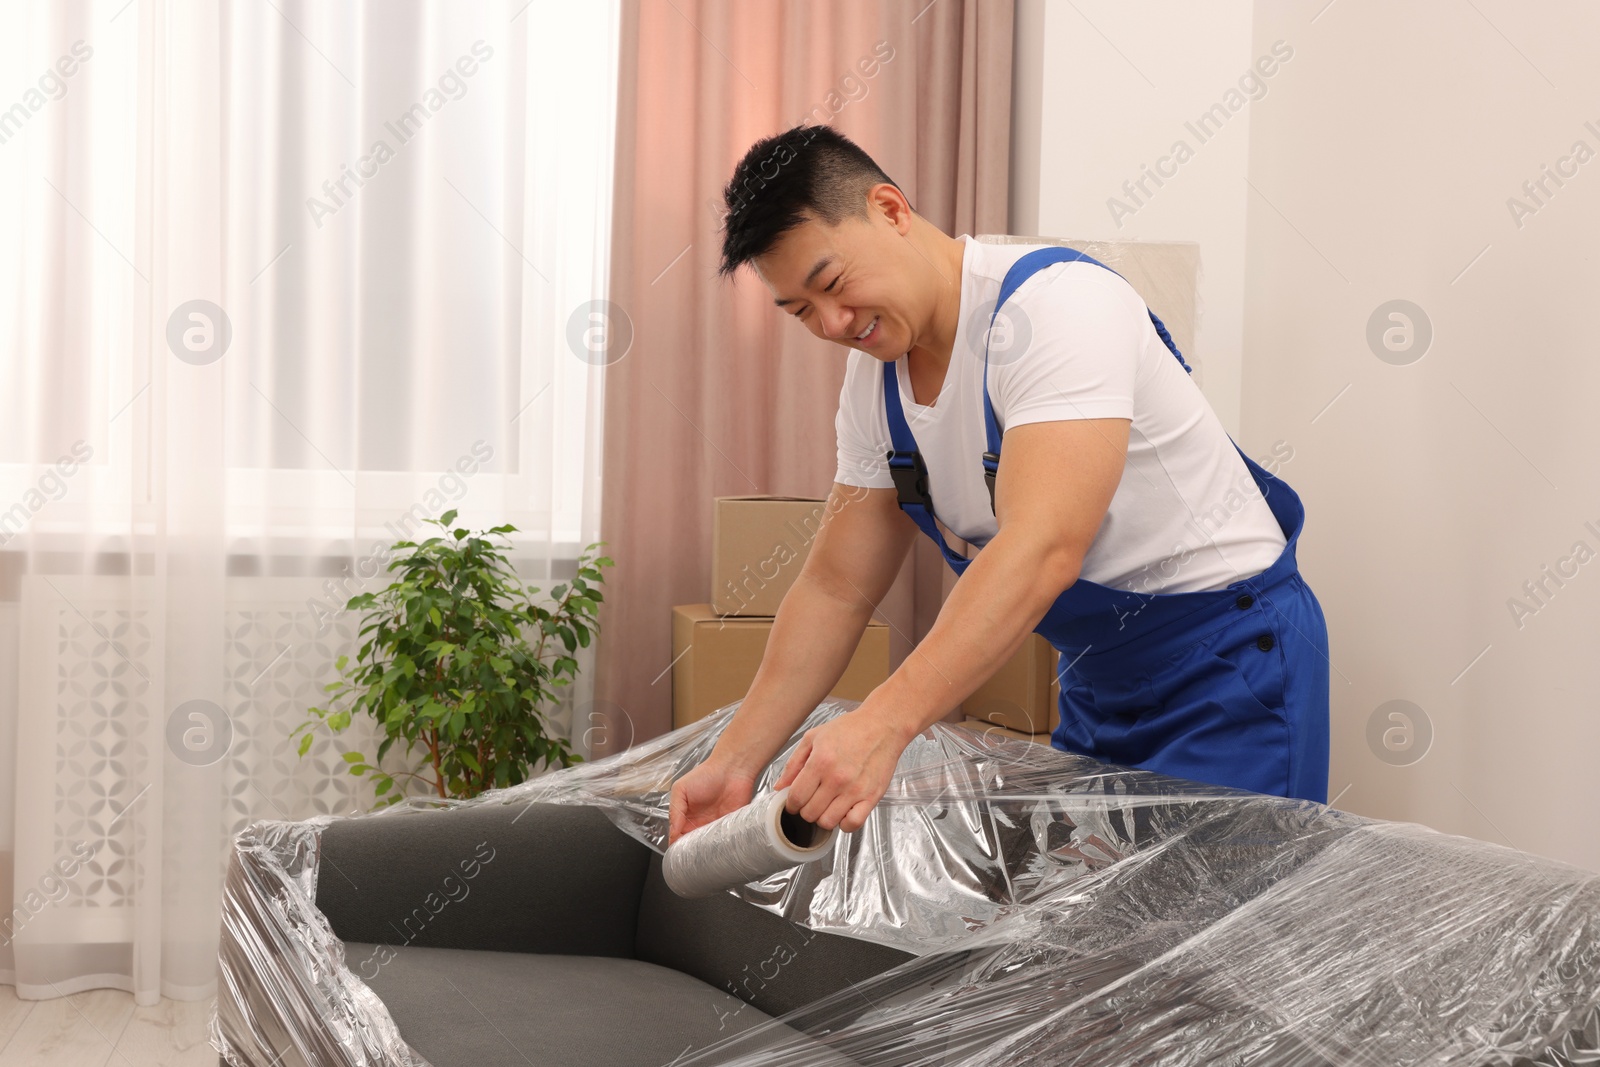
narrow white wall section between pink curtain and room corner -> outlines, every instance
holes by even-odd
[[[1198,242],[1200,333],[1184,357],[1229,430],[1240,411],[1245,166],[1259,104],[1240,93],[1237,110],[1200,131],[1205,139],[1186,123],[1237,91],[1256,58],[1250,21],[1248,0],[1018,5],[1011,230]],[[1262,99],[1280,80],[1262,82]],[[1173,155],[1179,141],[1192,152],[1182,163]],[[1158,166],[1173,174],[1157,174],[1160,184],[1149,178]]]

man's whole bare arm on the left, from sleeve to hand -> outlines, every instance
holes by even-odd
[[[845,673],[915,531],[894,490],[834,483],[744,702],[672,790],[669,840],[749,801],[755,777]]]

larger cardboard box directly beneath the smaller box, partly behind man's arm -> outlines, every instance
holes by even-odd
[[[773,619],[718,617],[710,605],[672,609],[672,726],[686,726],[742,699],[766,653]],[[867,624],[832,696],[864,701],[890,677],[890,627]]]

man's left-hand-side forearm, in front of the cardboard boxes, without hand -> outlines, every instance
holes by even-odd
[[[802,573],[778,608],[762,665],[712,758],[760,773],[845,673],[870,617],[864,597],[840,600]]]

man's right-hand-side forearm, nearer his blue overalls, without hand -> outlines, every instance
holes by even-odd
[[[1077,581],[1080,565],[1050,544],[997,534],[950,590],[928,635],[872,694],[872,712],[909,744],[1022,646],[1061,590]]]

